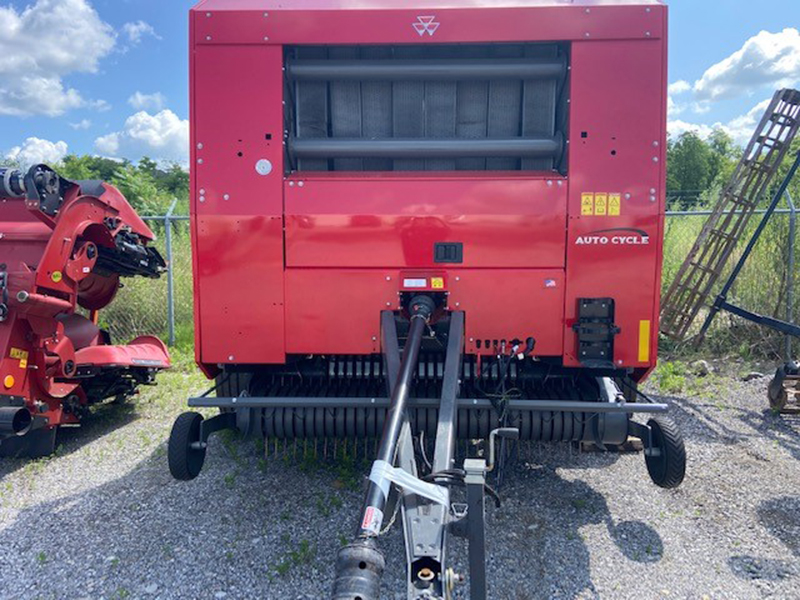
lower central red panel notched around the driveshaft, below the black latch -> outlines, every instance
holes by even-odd
[[[425,275],[441,276],[448,307],[465,311],[467,352],[487,352],[483,344],[477,349],[478,339],[532,335],[537,355],[561,354],[561,269],[287,269],[287,353],[379,352],[380,311],[398,308],[404,279]]]

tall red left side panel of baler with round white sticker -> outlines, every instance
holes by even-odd
[[[195,48],[192,213],[205,364],[285,357],[282,60],[275,46]],[[266,175],[256,170],[264,160]]]

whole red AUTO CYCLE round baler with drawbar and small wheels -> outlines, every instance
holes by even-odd
[[[408,598],[462,579],[486,598],[495,442],[639,438],[652,480],[681,483],[668,407],[637,388],[659,330],[666,6],[204,0],[190,38],[196,358],[216,397],[189,405],[220,413],[175,422],[176,478],[220,429],[378,440],[336,600],[378,598],[398,514]],[[464,439],[482,450],[461,460]]]

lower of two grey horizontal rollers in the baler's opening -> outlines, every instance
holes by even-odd
[[[564,137],[495,139],[290,138],[289,152],[303,158],[558,158]]]

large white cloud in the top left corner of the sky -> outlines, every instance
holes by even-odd
[[[88,0],[0,6],[0,115],[51,117],[89,106],[62,77],[95,73],[116,35]]]

